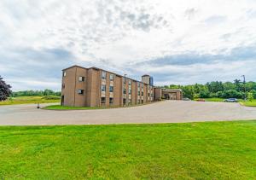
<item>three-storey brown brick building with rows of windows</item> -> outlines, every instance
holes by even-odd
[[[153,78],[137,81],[96,67],[62,70],[61,105],[73,107],[128,106],[154,101]]]

